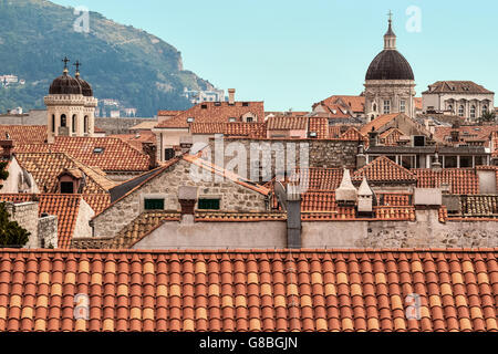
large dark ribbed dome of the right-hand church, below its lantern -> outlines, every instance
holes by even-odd
[[[370,64],[366,80],[415,80],[415,76],[398,51],[383,50]]]

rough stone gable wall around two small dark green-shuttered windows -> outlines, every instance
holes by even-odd
[[[229,179],[217,183],[194,181],[190,177],[190,164],[180,160],[162,175],[142,185],[137,190],[118,200],[92,220],[94,237],[114,237],[143,211],[144,196],[165,198],[165,210],[180,210],[178,187],[196,186],[199,197],[219,196],[220,211],[251,212],[267,211],[267,197],[242,187]]]

